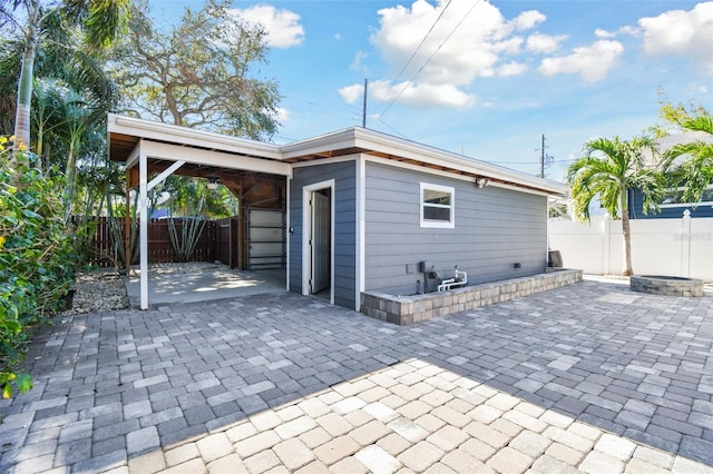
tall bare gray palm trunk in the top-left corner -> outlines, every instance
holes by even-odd
[[[30,8],[32,11],[30,11]],[[40,0],[28,4],[28,22],[25,38],[25,52],[20,80],[18,81],[18,101],[14,116],[14,150],[21,145],[30,146],[30,108],[32,106],[32,80],[35,79],[35,57],[39,31]]]

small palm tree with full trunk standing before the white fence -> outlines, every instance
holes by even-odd
[[[656,161],[656,141],[646,136],[631,141],[595,138],[585,144],[584,151],[585,156],[567,169],[575,215],[579,220],[589,220],[589,205],[595,198],[613,218],[621,213],[625,258],[622,274],[633,275],[628,194],[629,189],[639,189],[644,213],[657,210],[666,189],[664,175],[657,166],[646,165],[649,158]]]

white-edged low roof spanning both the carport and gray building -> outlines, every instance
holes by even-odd
[[[348,128],[286,145],[248,140],[114,113],[108,117],[107,129],[109,158],[114,161],[128,161],[141,140],[156,145],[164,144],[194,149],[202,154],[213,151],[224,158],[221,161],[223,165],[226,164],[226,160],[229,161],[229,156],[251,158],[257,165],[261,162],[260,160],[265,160],[266,172],[274,169],[276,162],[285,165],[311,162],[316,165],[318,161],[331,158],[364,154],[473,179],[485,177],[494,185],[516,187],[547,195],[561,196],[569,190],[566,185],[560,182],[361,127]],[[177,148],[173,149],[177,150]],[[237,165],[240,160],[235,161]],[[268,162],[272,162],[272,166]],[[236,168],[240,167],[236,166]]]

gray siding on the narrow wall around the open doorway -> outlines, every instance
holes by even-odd
[[[334,179],[334,304],[355,306],[356,189],[354,161],[294,168],[290,184],[290,290],[302,293],[302,191],[305,186]]]

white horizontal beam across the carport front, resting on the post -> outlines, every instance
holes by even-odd
[[[149,158],[169,161],[186,161],[198,165],[216,166],[221,168],[242,169],[246,171],[267,172],[292,177],[292,166],[286,162],[267,159],[237,156],[214,150],[182,147],[178,145],[159,144],[141,139],[141,154]]]

